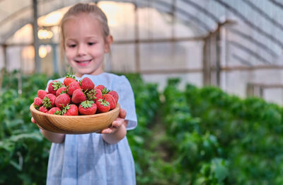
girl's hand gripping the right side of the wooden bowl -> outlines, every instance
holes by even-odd
[[[127,115],[127,112],[125,111],[125,109],[120,108],[120,113],[119,113],[118,118],[116,118],[113,121],[112,125],[110,125],[109,128],[105,128],[104,130],[101,130],[101,133],[103,134],[116,133],[117,130],[121,129],[122,125],[124,125],[126,128],[127,127],[127,121],[125,120],[126,115]]]

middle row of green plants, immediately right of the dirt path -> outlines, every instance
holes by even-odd
[[[202,127],[200,118],[192,116],[178,82],[179,79],[168,80],[164,90],[166,138],[174,151],[170,162],[175,169],[168,176],[175,180],[174,184],[226,184],[229,162],[223,157],[219,138]]]

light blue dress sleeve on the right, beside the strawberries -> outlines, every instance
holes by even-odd
[[[124,76],[120,76],[115,80],[113,90],[119,95],[118,103],[121,108],[127,111],[125,120],[128,120],[127,130],[132,130],[137,127],[137,113],[134,104],[134,92],[129,80]]]

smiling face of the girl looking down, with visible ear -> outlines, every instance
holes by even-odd
[[[64,48],[77,77],[103,72],[103,57],[109,51],[110,36],[103,37],[103,26],[96,18],[81,13],[64,23]]]

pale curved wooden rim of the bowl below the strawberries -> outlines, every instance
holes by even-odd
[[[100,117],[100,116],[105,116],[106,114],[110,114],[113,111],[117,111],[117,109],[120,109],[120,103],[116,104],[116,107],[108,112],[105,113],[95,113],[95,114],[91,114],[91,115],[79,115],[79,116],[68,116],[68,118],[96,118],[96,117]],[[30,111],[33,111],[37,114],[40,114],[42,116],[50,116],[50,117],[59,117],[59,118],[64,118],[65,116],[63,115],[56,115],[56,114],[50,114],[50,113],[43,113],[41,111],[38,111],[35,106],[33,106],[33,103],[30,104]],[[63,116],[63,117],[62,117]]]

